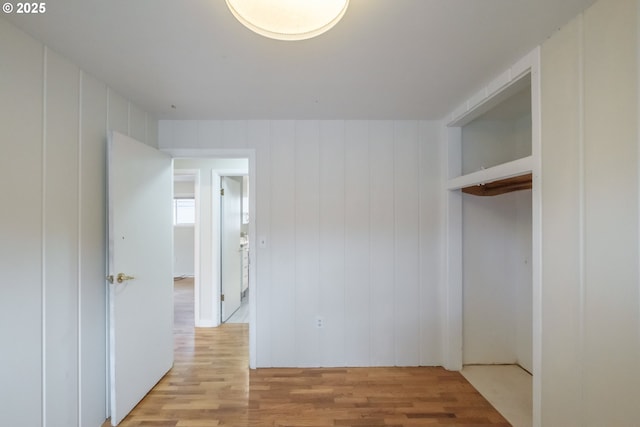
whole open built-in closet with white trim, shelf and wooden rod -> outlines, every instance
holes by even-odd
[[[490,82],[448,125],[450,369],[513,365],[536,372],[536,60],[533,52]],[[535,375],[531,383],[535,400]],[[528,400],[530,414],[535,402]]]

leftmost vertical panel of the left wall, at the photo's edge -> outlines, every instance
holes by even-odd
[[[0,51],[0,425],[30,427],[42,396],[43,54],[5,19]]]

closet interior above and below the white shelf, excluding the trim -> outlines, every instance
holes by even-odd
[[[531,156],[531,85],[462,126],[462,172]],[[532,368],[531,173],[463,187],[463,364]]]

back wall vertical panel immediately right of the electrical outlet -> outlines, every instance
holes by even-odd
[[[320,330],[324,366],[344,365],[344,122],[320,122]]]

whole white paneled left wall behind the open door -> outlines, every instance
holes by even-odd
[[[157,122],[4,19],[0,52],[0,425],[97,427],[107,129]]]

